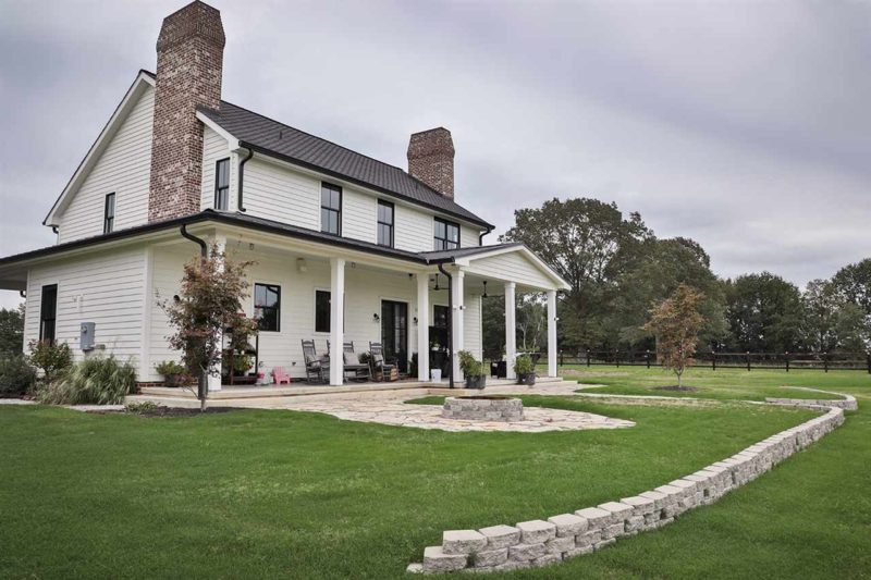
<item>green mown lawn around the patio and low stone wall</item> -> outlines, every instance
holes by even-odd
[[[833,373],[814,377],[834,387]],[[860,405],[871,403],[871,382],[849,377]],[[735,381],[745,390],[753,379]],[[715,386],[726,388],[720,375]],[[638,424],[443,433],[291,411],[145,419],[0,406],[0,577],[401,578],[444,529],[633,495],[812,416],[729,402],[526,403]],[[809,449],[673,526],[510,577],[868,576],[869,435],[871,414],[849,414]]]

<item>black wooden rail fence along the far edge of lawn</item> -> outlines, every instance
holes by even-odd
[[[716,369],[798,369],[867,371],[871,374],[871,353],[696,353],[695,367]],[[560,365],[585,367],[659,367],[651,350],[560,351]]]

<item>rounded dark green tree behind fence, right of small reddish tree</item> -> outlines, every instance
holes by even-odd
[[[801,346],[801,294],[770,272],[745,274],[726,283],[731,349],[795,351]]]

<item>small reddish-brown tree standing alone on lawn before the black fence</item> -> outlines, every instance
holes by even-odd
[[[700,292],[680,284],[672,295],[650,311],[650,321],[643,330],[657,335],[657,350],[662,366],[677,375],[677,386],[687,367],[695,360],[699,331],[704,317],[699,304],[704,298]]]

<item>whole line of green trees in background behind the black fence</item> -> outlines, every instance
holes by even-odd
[[[699,347],[716,351],[864,353],[871,346],[871,258],[805,288],[772,272],[721,279],[700,244],[659,238],[637,212],[597,199],[551,199],[515,211],[500,242],[522,242],[564,277],[557,335],[564,351],[654,350],[646,328],[654,306],[680,284],[701,294]],[[538,295],[518,296],[517,344],[547,343]],[[504,346],[503,297],[484,299],[486,356]]]

